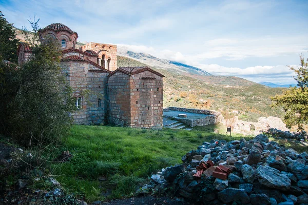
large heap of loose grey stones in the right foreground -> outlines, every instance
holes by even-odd
[[[196,167],[208,160],[214,166],[196,177]],[[152,175],[142,189],[198,204],[308,204],[308,154],[279,146],[266,135],[249,141],[203,142],[182,161]],[[213,177],[217,166],[232,171],[226,180]]]

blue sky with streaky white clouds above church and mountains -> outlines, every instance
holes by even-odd
[[[196,66],[214,75],[294,83],[287,65],[308,57],[308,1],[0,0],[17,28],[40,18],[63,23],[79,41]]]

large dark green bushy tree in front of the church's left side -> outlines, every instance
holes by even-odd
[[[5,79],[0,91],[0,131],[26,146],[49,145],[63,138],[75,108],[72,89],[59,67],[60,44],[52,38],[37,43],[38,20],[30,22],[34,33],[27,40],[30,59],[22,67],[2,64],[5,72],[0,74]]]

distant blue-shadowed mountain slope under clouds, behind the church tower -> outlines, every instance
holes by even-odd
[[[123,47],[123,46],[118,46],[117,50],[118,50],[118,55],[120,56],[132,58],[143,64],[155,67],[157,69],[163,69],[163,70],[168,70],[168,71],[177,72],[177,73],[187,73],[191,75],[211,76],[210,73],[200,68],[182,64],[176,61],[160,59],[158,57],[155,57],[147,53],[135,53],[135,52],[129,51],[126,47]]]

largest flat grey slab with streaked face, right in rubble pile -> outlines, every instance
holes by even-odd
[[[268,166],[259,166],[257,169],[257,177],[261,185],[268,188],[285,191],[290,189],[291,186],[291,180],[287,176],[280,174],[278,170],[275,171],[275,169]]]

